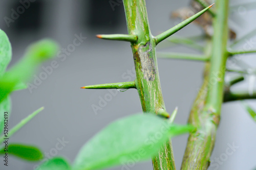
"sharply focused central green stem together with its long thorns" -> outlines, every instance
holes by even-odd
[[[143,112],[155,113],[168,118],[169,114],[165,110],[158,74],[156,45],[193,22],[193,20],[206,12],[213,4],[156,37],[150,31],[145,0],[123,0],[123,5],[129,34],[97,35],[97,37],[131,42],[136,79],[134,82],[98,84],[86,86],[83,89],[136,88],[139,93]],[[200,59],[202,60],[202,58]],[[208,58],[203,58],[203,60],[208,60]],[[170,140],[163,144],[158,155],[153,158],[153,167],[155,170],[176,169],[172,142]]]

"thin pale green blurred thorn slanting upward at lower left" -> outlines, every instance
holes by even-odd
[[[15,132],[17,132],[20,128],[22,128],[25,124],[27,124],[33,117],[35,117],[39,112],[44,110],[44,107],[41,107],[37,109],[35,112],[30,114],[28,117],[20,121],[18,124],[16,124],[11,130],[9,130],[8,138],[10,138]],[[0,143],[4,141],[5,136],[2,136],[0,138]]]

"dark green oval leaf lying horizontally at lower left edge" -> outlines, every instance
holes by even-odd
[[[28,161],[38,161],[44,157],[37,147],[24,144],[9,144],[8,148],[4,147],[0,150],[0,154],[5,153]]]

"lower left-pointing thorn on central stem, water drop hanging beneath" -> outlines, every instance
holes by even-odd
[[[136,89],[135,81],[84,86],[81,89]]]

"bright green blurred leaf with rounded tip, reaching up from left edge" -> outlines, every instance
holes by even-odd
[[[54,57],[58,45],[50,39],[40,40],[31,45],[25,57],[0,79],[0,102],[14,90],[20,82],[27,82],[35,72],[36,67],[43,61]]]

